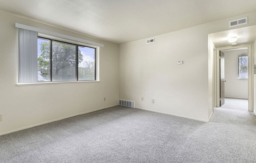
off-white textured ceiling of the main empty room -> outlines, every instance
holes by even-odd
[[[0,0],[0,9],[124,43],[256,11],[256,0]]]

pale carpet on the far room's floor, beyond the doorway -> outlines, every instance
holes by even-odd
[[[248,99],[226,98],[222,108],[248,110]]]

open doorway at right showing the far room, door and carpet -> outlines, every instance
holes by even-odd
[[[220,51],[221,108],[248,110],[248,48]]]

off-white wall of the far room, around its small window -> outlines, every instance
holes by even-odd
[[[248,79],[238,79],[238,56],[248,54],[247,49],[224,51],[225,97],[248,99]]]

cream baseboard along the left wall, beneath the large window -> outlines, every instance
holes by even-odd
[[[15,129],[15,130],[7,131],[7,132],[2,132],[2,133],[0,133],[0,136],[1,136],[1,135],[5,135],[5,134],[9,134],[9,133],[11,133],[11,132],[16,132],[16,131],[19,131],[19,130],[29,129],[29,128],[31,128],[31,127],[35,127],[35,126],[39,126],[39,125],[44,125],[44,124],[46,124],[46,123],[51,123],[51,122],[54,122],[54,121],[63,120],[63,119],[70,118],[70,117],[73,117],[73,116],[78,116],[78,115],[81,115],[81,114],[86,114],[86,113],[89,113],[89,112],[94,112],[94,111],[97,111],[97,110],[106,109],[106,108],[109,108],[109,107],[114,107],[114,106],[117,106],[117,105],[118,105],[118,104],[110,105],[110,106],[107,106],[107,107],[102,107],[102,108],[90,110],[90,111],[87,111],[87,112],[81,112],[81,113],[78,113],[78,114],[73,114],[73,115],[71,115],[71,116],[66,116],[66,117],[62,117],[62,118],[57,118],[57,119],[55,119],[55,120],[50,120],[50,121],[46,121],[46,122],[42,122],[42,123],[37,123],[37,124],[35,124],[35,125],[31,125],[31,126],[27,126],[27,127],[22,127],[22,128],[20,128],[20,129]]]

